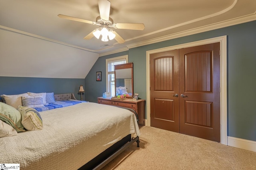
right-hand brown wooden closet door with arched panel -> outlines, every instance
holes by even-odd
[[[220,142],[220,43],[180,49],[180,133]]]

